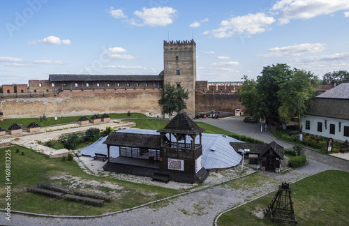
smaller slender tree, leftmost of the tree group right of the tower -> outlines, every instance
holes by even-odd
[[[253,110],[255,110],[255,101],[258,100],[257,89],[255,89],[255,80],[248,80],[248,77],[244,75],[242,78],[244,80],[244,84],[241,86],[240,102],[244,105],[251,115],[253,116]]]

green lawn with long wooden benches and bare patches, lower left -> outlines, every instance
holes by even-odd
[[[92,176],[83,172],[75,161],[47,158],[20,146],[0,149],[0,174],[3,175],[0,183],[3,186],[6,182],[5,158],[8,149],[10,149],[10,182],[12,182],[10,202],[12,210],[54,215],[89,216],[128,209],[181,193],[179,190],[120,181],[110,177]],[[15,153],[16,149],[20,149],[20,153]],[[22,156],[22,152],[24,152],[24,156]],[[57,176],[63,176],[63,179],[53,178]],[[79,183],[75,180],[75,177],[80,178],[78,181],[86,181],[87,185]],[[100,192],[106,192],[107,195],[117,196],[117,198],[112,202],[105,202],[105,205],[100,207],[84,204],[83,202],[68,202],[64,199],[27,193],[27,187],[36,186],[38,182],[64,187],[75,184],[77,189],[92,189],[95,192],[99,190]],[[118,186],[120,189],[109,188],[107,183]],[[0,206],[6,206],[5,189],[0,189]]]

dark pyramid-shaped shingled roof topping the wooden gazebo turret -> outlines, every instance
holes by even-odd
[[[200,128],[185,112],[180,111],[174,118],[165,126],[158,130],[158,133],[177,133],[186,135],[198,135],[205,131],[205,128]]]

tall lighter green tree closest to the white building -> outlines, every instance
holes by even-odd
[[[290,119],[304,114],[306,109],[313,103],[315,97],[315,88],[318,84],[318,78],[305,70],[294,69],[290,80],[281,84],[279,98],[281,106],[279,107],[279,116],[284,123],[289,123]],[[301,121],[298,121],[299,131],[301,130]]]

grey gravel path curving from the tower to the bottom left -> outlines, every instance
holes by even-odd
[[[205,119],[206,123],[218,126],[234,133],[255,137],[265,142],[271,142],[274,138],[266,132],[260,132],[260,124],[240,123],[237,119]],[[258,133],[259,131],[259,133]],[[284,147],[291,144],[276,141]],[[327,169],[342,169],[349,171],[348,161],[327,156],[315,151],[307,151],[309,163],[300,169],[290,169],[285,174],[272,172],[259,172],[267,179],[259,181],[259,186],[247,188],[230,188],[226,184],[213,186],[195,193],[181,195],[168,201],[159,203],[158,208],[144,206],[139,209],[117,213],[114,216],[101,218],[77,219],[77,218],[43,218],[31,217],[21,214],[12,216],[10,225],[212,225],[214,218],[227,209],[248,202],[255,197],[276,190],[281,182],[293,183],[307,176],[323,172]],[[1,225],[9,225],[5,220],[5,214],[1,213]]]

